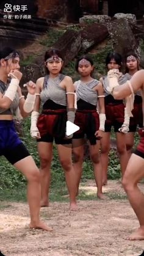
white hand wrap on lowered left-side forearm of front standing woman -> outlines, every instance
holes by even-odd
[[[38,135],[40,134],[37,128],[37,120],[39,117],[40,113],[37,111],[32,111],[31,114],[31,136],[35,139],[38,137]]]

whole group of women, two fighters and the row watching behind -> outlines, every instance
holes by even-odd
[[[76,71],[80,79],[73,83],[70,76],[62,74],[63,56],[59,50],[50,49],[45,53],[46,75],[37,79],[36,84],[27,82],[29,93],[26,100],[19,86],[22,76],[19,62],[20,56],[15,50],[5,48],[0,52],[0,153],[27,178],[30,227],[52,230],[40,221],[39,212],[40,207],[49,205],[53,141],[57,145],[59,161],[65,172],[70,210],[77,209],[76,197],[82,176],[85,137],[93,164],[97,196],[105,199],[102,188],[107,185],[110,132],[113,126],[117,137],[122,184],[140,222],[140,228],[129,239],[144,240],[144,196],[137,187],[137,182],[144,176],[144,71],[138,71],[138,57],[134,53],[126,56],[126,73],[122,74],[120,54],[109,53],[106,58],[107,76],[98,81],[92,76],[93,60],[87,55],[81,56],[76,60]],[[117,80],[114,84],[113,78]],[[127,82],[129,79],[130,86]],[[112,90],[109,90],[110,82],[113,84]],[[142,89],[141,92],[139,89]],[[126,112],[126,97],[130,94],[135,97],[132,116]],[[16,110],[23,117],[31,114],[31,136],[37,139],[40,172],[16,134],[13,124]],[[71,136],[66,133],[67,120],[79,126],[79,130]],[[137,125],[141,128],[141,140],[137,151],[132,154]]]

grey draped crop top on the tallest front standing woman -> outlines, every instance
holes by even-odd
[[[49,78],[49,75],[45,76],[43,90],[41,90],[40,93],[42,104],[47,100],[52,100],[54,103],[67,106],[66,90],[59,86],[63,78],[65,78],[65,75],[63,74],[59,74],[56,78]]]

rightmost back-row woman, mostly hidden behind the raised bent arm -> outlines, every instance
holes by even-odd
[[[129,53],[125,57],[126,65],[126,79],[130,80],[135,72],[139,70],[139,59],[135,53]],[[128,158],[132,153],[132,147],[134,146],[134,133],[137,130],[137,125],[143,126],[142,122],[142,97],[140,91],[135,93],[134,97],[134,109],[132,110],[133,117],[130,118],[129,132],[126,133],[126,149],[128,152]],[[140,120],[141,119],[141,120]]]

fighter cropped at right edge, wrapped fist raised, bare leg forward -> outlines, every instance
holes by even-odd
[[[108,74],[108,76],[110,75],[110,79],[112,79],[112,76],[117,79],[117,75],[112,75],[112,70],[109,72],[110,74]],[[130,81],[127,81],[121,86],[117,86],[117,82],[110,82],[110,84],[113,97],[117,100],[121,100],[128,96],[130,97],[140,89],[142,91],[142,100],[144,104],[144,70],[137,71]],[[129,202],[131,203],[140,223],[139,229],[132,233],[132,235],[127,238],[128,240],[144,240],[144,195],[137,186],[137,183],[144,178],[144,128],[139,129],[139,134],[139,145],[129,159],[128,166],[126,167],[126,172],[124,173],[122,180]]]

